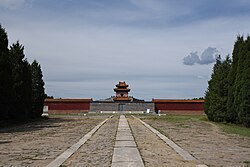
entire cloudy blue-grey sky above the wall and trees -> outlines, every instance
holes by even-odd
[[[249,0],[0,0],[9,45],[55,98],[108,98],[119,81],[139,99],[203,97],[249,20]]]

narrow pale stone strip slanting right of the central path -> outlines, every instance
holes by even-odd
[[[145,127],[147,127],[149,130],[151,130],[153,133],[155,133],[160,139],[162,139],[166,144],[168,144],[171,148],[173,148],[184,160],[187,161],[193,161],[196,160],[194,156],[189,154],[186,150],[182,149],[180,146],[175,144],[172,140],[167,138],[165,135],[161,134],[159,131],[145,123],[139,118],[136,118],[135,116],[132,116],[133,118],[139,120]],[[207,165],[201,164],[201,165],[196,165],[196,167],[207,167]]]

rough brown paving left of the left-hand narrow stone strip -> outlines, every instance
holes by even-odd
[[[0,129],[0,166],[46,166],[105,118],[50,118]]]

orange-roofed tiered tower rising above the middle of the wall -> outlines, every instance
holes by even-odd
[[[116,88],[114,88],[116,93],[114,101],[131,101],[131,98],[128,96],[128,92],[130,91],[128,86],[125,81],[119,81],[119,83],[116,84]]]

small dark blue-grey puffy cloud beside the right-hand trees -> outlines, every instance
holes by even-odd
[[[199,56],[198,52],[191,52],[188,56],[183,58],[183,64],[192,66],[194,64],[207,65],[214,63],[216,58],[218,49],[208,47],[205,49],[202,54]]]

